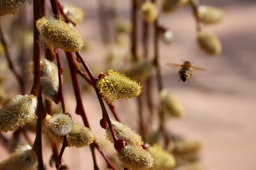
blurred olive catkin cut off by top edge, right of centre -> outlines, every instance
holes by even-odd
[[[164,0],[162,10],[164,13],[172,12],[180,7],[188,5],[189,0]]]

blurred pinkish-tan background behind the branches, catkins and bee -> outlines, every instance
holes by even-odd
[[[102,41],[102,20],[99,21],[98,4],[105,4],[106,8],[113,7],[117,18],[130,20],[130,1],[60,1],[62,4],[72,3],[79,6],[85,13],[83,22],[77,27],[85,41],[86,49],[82,51],[86,62],[95,75],[106,72],[112,67],[108,63],[108,55],[113,50],[113,21],[107,16],[104,18],[109,24],[103,32],[109,41]],[[160,3],[159,3],[160,4]],[[171,14],[161,14],[159,23],[170,28],[174,34],[174,40],[170,45],[160,42],[159,56],[162,66],[164,87],[175,96],[185,109],[185,116],[181,119],[168,120],[167,129],[171,133],[179,134],[189,140],[200,141],[203,145],[200,154],[200,167],[207,170],[254,170],[256,169],[256,66],[255,66],[255,42],[256,42],[256,2],[236,0],[201,0],[202,5],[211,5],[221,8],[225,12],[224,20],[219,24],[205,25],[205,31],[212,31],[222,42],[222,53],[219,56],[208,56],[201,52],[196,43],[195,19],[192,16],[191,8],[184,7]],[[31,8],[27,3],[22,14],[26,20],[22,22],[31,27]],[[51,7],[47,2],[48,16],[51,15]],[[11,57],[17,58],[20,51],[13,42],[18,37],[18,26],[12,25],[18,16],[3,16],[1,24],[10,47]],[[103,20],[104,20],[103,19]],[[23,24],[24,24],[23,23]],[[20,23],[22,24],[22,23]],[[140,26],[141,27],[141,26]],[[151,32],[150,36],[153,36]],[[141,41],[141,37],[139,37]],[[28,40],[27,40],[28,41]],[[150,42],[150,56],[152,57],[152,42]],[[119,50],[119,51],[118,51]],[[129,46],[117,49],[116,53],[129,54]],[[62,54],[64,56],[64,54]],[[32,50],[26,52],[28,60],[32,56]],[[142,56],[141,42],[139,44],[139,56]],[[2,57],[3,58],[3,57]],[[15,59],[14,59],[15,60]],[[179,69],[171,68],[166,63],[182,64],[183,61],[191,61],[197,67],[203,67],[207,71],[194,72],[188,82],[179,80],[177,73]],[[18,65],[21,61],[15,60]],[[67,111],[81,122],[81,118],[75,115],[75,98],[71,90],[69,70],[64,65],[64,90]],[[120,67],[126,67],[122,63]],[[117,65],[116,65],[117,66]],[[28,68],[24,63],[23,67]],[[22,69],[22,68],[21,68]],[[113,68],[115,69],[115,68]],[[9,71],[7,80],[3,84],[7,96],[11,97],[18,92],[18,84],[13,74]],[[28,76],[28,71],[24,72]],[[155,79],[155,71],[154,76]],[[67,80],[66,80],[67,79]],[[27,79],[27,92],[30,91],[31,83]],[[81,79],[84,88],[83,101],[88,114],[93,133],[98,141],[106,145],[106,152],[113,150],[112,146],[107,147],[109,142],[105,139],[105,131],[100,128],[101,108],[97,96],[91,87]],[[154,96],[157,96],[156,82],[152,89]],[[121,120],[138,129],[137,100],[116,101],[115,107]],[[157,101],[155,101],[155,104]],[[156,119],[156,116],[154,117]],[[154,126],[154,124],[152,124]],[[8,134],[7,134],[8,135]],[[33,136],[32,136],[33,137]],[[34,139],[33,139],[34,140]],[[44,162],[48,164],[51,156],[51,148],[44,142]],[[8,152],[0,147],[0,160],[7,158]],[[98,162],[106,169],[101,156],[97,153]],[[92,156],[88,147],[67,148],[64,152],[64,163],[72,169],[93,169]],[[48,166],[48,165],[47,165]],[[54,169],[54,168],[49,168]]]

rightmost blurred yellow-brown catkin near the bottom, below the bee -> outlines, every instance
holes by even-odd
[[[199,157],[201,143],[198,141],[181,141],[176,143],[172,153],[183,160],[196,160]]]

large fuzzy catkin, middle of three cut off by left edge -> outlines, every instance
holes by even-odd
[[[16,130],[32,121],[38,100],[34,95],[16,95],[0,109],[0,131]]]

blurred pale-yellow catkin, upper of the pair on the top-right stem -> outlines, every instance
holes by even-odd
[[[224,18],[224,12],[219,8],[212,6],[199,6],[198,15],[200,21],[205,24],[218,23]]]

